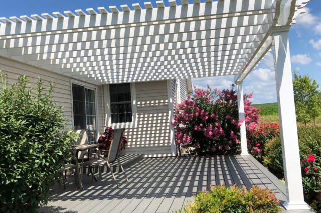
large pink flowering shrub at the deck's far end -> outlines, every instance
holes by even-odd
[[[245,115],[253,129],[258,123],[257,109],[244,95]],[[175,140],[190,154],[237,154],[240,152],[241,125],[238,118],[237,96],[234,85],[219,91],[208,87],[194,89],[194,94],[178,105],[174,116]]]

